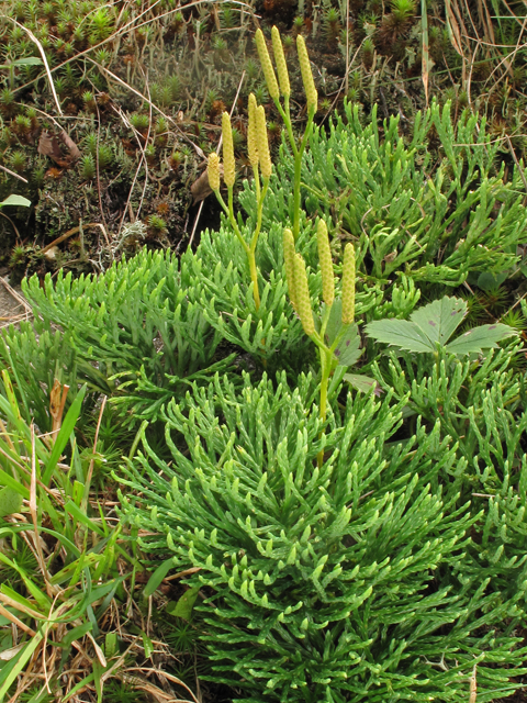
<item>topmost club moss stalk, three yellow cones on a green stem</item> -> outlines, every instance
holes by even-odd
[[[271,57],[267,49],[266,40],[261,30],[256,32],[256,47],[260,57],[260,64],[266,78],[267,89],[269,94],[277,105],[277,110],[282,116],[285,130],[288,132],[289,143],[294,157],[294,182],[293,182],[293,237],[298,238],[300,232],[300,185],[301,185],[301,171],[302,171],[302,156],[304,154],[307,140],[310,138],[311,130],[313,127],[313,118],[316,112],[316,105],[318,103],[318,93],[316,92],[315,82],[313,80],[313,74],[311,71],[310,57],[305,47],[304,37],[299,34],[296,37],[296,49],[299,54],[300,71],[302,74],[302,82],[304,85],[304,92],[307,100],[307,124],[305,125],[304,134],[296,143],[293,135],[293,126],[291,122],[290,111],[290,97],[291,86],[289,81],[288,65],[285,62],[285,55],[283,53],[282,41],[280,38],[280,32],[276,26],[271,31],[272,36],[272,52],[274,55],[274,63],[277,65],[277,76],[272,67]],[[283,97],[283,105],[280,102],[280,96]]]

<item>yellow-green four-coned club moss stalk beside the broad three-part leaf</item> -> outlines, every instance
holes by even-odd
[[[326,328],[335,301],[335,274],[333,269],[329,239],[326,223],[318,221],[316,239],[318,245],[318,260],[322,272],[322,298],[324,312],[318,328],[315,326],[313,308],[311,305],[310,287],[304,259],[294,250],[294,237],[291,230],[283,231],[283,257],[285,263],[285,279],[289,297],[294,311],[300,317],[305,334],[314,342],[318,349],[321,361],[321,405],[319,416],[323,422],[327,414],[327,389],[329,377],[338,365],[336,349],[349,332],[349,325],[355,316],[355,249],[347,244],[343,265],[343,299],[340,328],[333,341],[326,338]],[[323,455],[318,456],[318,465],[323,462]]]

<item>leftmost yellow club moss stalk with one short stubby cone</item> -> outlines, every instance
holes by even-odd
[[[223,180],[227,187],[227,203],[225,203],[220,192],[220,158],[217,154],[212,153],[209,156],[209,185],[214,191],[220,204],[224,209],[231,226],[234,230],[239,243],[245,249],[249,264],[250,280],[253,282],[253,294],[255,298],[256,310],[260,306],[260,292],[258,288],[258,269],[256,266],[256,246],[261,231],[261,217],[264,210],[264,200],[269,187],[272,164],[269,153],[269,142],[267,138],[266,111],[264,108],[257,107],[255,96],[249,96],[249,124],[247,130],[247,142],[249,152],[249,161],[255,175],[255,190],[257,204],[256,227],[247,243],[239,224],[234,215],[233,189],[236,180],[236,164],[234,159],[233,130],[231,126],[231,118],[227,112],[222,115],[222,136],[223,136]],[[262,187],[260,187],[259,170],[261,172]]]

